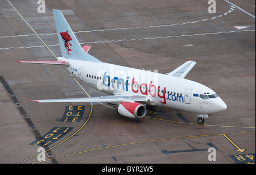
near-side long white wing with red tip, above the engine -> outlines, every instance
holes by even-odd
[[[146,96],[142,95],[112,95],[102,97],[85,97],[85,98],[63,98],[63,99],[41,99],[28,100],[38,103],[68,103],[68,102],[147,102]]]

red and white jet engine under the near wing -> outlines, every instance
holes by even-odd
[[[129,118],[142,118],[146,114],[146,107],[141,103],[121,102],[117,107],[117,112]]]

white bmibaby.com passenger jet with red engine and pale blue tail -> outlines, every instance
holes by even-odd
[[[28,100],[39,103],[106,102],[117,105],[119,115],[142,118],[146,105],[163,106],[197,114],[197,122],[204,123],[227,106],[215,91],[184,77],[196,64],[188,60],[167,74],[108,64],[89,55],[89,45],[81,47],[60,10],[53,9],[61,56],[56,61],[17,61],[33,64],[62,65],[69,74],[104,93],[101,97]]]

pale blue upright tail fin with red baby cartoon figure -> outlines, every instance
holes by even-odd
[[[67,20],[60,10],[53,9],[57,35],[62,57],[75,60],[101,62],[82,49]]]

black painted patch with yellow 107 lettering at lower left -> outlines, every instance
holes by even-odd
[[[30,145],[40,145],[42,147],[51,145],[55,143],[55,141],[63,138],[63,136],[68,134],[72,129],[72,127],[53,127],[47,134],[33,141]]]

